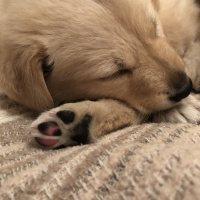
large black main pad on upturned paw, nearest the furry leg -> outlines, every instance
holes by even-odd
[[[71,139],[78,142],[79,144],[86,144],[91,120],[92,116],[85,115],[84,118],[73,129],[74,134],[71,135]]]

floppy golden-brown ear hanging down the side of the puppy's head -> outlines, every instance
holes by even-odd
[[[44,111],[53,108],[53,99],[43,76],[41,51],[34,46],[15,50],[7,46],[1,52],[1,89],[11,99],[31,109]]]

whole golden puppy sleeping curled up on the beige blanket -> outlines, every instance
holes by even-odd
[[[198,3],[0,0],[0,89],[40,112],[102,99],[33,122],[49,148],[96,141],[152,113],[155,122],[198,123],[189,95],[191,79],[197,92],[200,83]]]

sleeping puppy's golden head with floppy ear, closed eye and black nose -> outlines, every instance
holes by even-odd
[[[0,81],[22,104],[43,111],[54,103],[113,98],[151,113],[190,93],[183,62],[158,19],[157,0],[21,0],[8,7]]]

